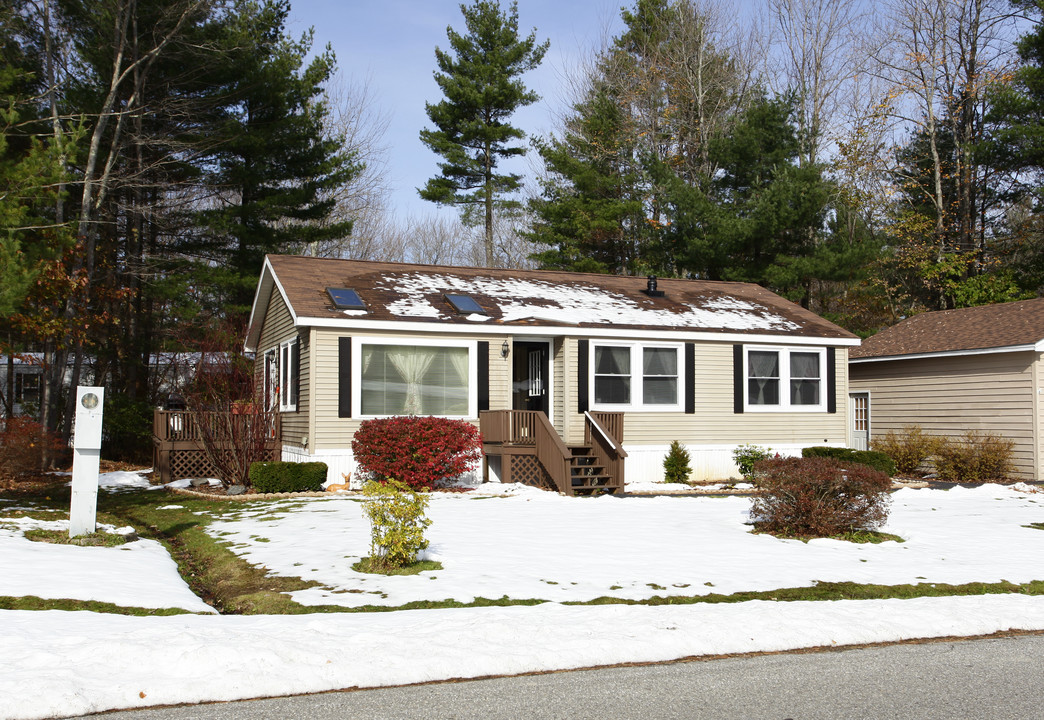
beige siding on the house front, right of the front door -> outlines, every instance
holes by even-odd
[[[780,342],[783,345],[785,342]],[[566,342],[569,392],[567,442],[584,439],[583,414],[576,411],[577,344]],[[662,446],[671,440],[691,445],[844,445],[848,426],[848,351],[836,349],[834,371],[837,388],[837,412],[734,412],[733,344],[695,343],[695,413],[627,412],[624,415],[624,442]],[[593,359],[589,358],[590,363]],[[586,380],[585,380],[586,382]],[[826,391],[826,378],[824,378]]]

